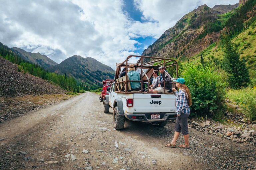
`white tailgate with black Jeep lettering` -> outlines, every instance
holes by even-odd
[[[174,94],[134,94],[133,113],[175,112]]]

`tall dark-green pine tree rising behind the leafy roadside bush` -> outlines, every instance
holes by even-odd
[[[223,68],[228,73],[230,87],[233,89],[246,87],[250,77],[245,61],[240,59],[235,45],[227,36],[224,36],[223,42]]]

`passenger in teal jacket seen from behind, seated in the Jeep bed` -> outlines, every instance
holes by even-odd
[[[129,70],[127,73],[129,80],[140,80],[140,74],[135,71],[134,65],[129,64]],[[138,91],[141,90],[140,82],[130,82],[131,90],[130,91]]]

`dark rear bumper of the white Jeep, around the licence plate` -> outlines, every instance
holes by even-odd
[[[150,115],[152,115],[152,113],[135,113],[135,114],[127,113],[127,114],[125,114],[125,117],[128,120],[137,121],[137,122],[163,122],[163,121],[176,119],[176,117],[177,117],[176,112],[173,112],[173,113],[154,113],[154,114],[159,114],[160,119],[150,119]],[[134,116],[136,116],[136,119],[132,118]]]

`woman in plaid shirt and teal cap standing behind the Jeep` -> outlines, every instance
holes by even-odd
[[[179,92],[173,88],[176,97],[176,124],[175,132],[171,143],[165,145],[166,147],[176,147],[176,140],[182,132],[184,136],[185,144],[179,145],[181,148],[189,148],[189,134],[188,134],[188,117],[190,115],[189,106],[192,105],[191,94],[188,87],[185,85],[184,78],[178,78],[174,80]]]

